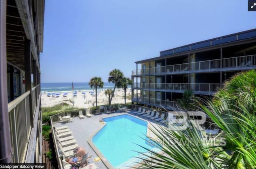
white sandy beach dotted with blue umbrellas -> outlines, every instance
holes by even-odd
[[[89,91],[84,91],[85,94],[82,94],[83,91],[78,91],[77,96],[74,96],[74,106],[78,108],[89,108],[92,106],[96,106],[96,93],[94,91],[93,94],[89,93]],[[47,96],[49,92],[42,92],[41,100],[42,100],[42,107],[50,107],[56,104],[63,102],[64,100],[72,100],[72,91],[67,92],[51,92],[51,93],[59,93],[59,97],[52,97]],[[64,93],[66,97],[63,96]],[[128,95],[131,95],[131,89],[126,90],[126,103],[131,102],[131,98]],[[105,91],[100,89],[97,91],[97,102],[98,106],[108,104],[108,96],[105,95]],[[69,102],[72,105],[71,102]],[[112,99],[112,104],[114,103],[123,103],[124,104],[124,90],[123,89],[116,89],[115,96]]]

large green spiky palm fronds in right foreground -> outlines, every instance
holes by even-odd
[[[150,151],[140,157],[140,168],[153,169],[253,169],[256,166],[256,71],[239,73],[227,81],[212,101],[198,104],[222,130],[211,140],[204,131],[187,128],[172,131],[163,126],[152,129],[164,153]],[[206,105],[206,106],[203,106]],[[188,122],[191,123],[191,122]],[[212,141],[215,141],[213,144]],[[171,144],[170,144],[171,143]]]

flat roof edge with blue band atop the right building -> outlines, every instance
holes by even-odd
[[[175,47],[165,51],[160,51],[160,56],[158,57],[153,57],[153,58],[142,60],[142,61],[136,61],[135,63],[138,64],[138,63],[144,63],[146,61],[163,59],[166,56],[194,52],[198,49],[208,49],[208,48],[217,47],[220,45],[226,45],[226,44],[234,43],[238,41],[244,41],[252,38],[253,39],[256,38],[256,29],[250,29],[247,31],[233,33],[230,35],[216,37],[216,38],[208,39],[205,41],[200,41],[200,42],[191,43],[191,44],[180,46],[180,47]]]

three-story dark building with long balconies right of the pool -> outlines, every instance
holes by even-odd
[[[184,90],[210,97],[236,73],[255,69],[256,29],[160,51],[135,63],[132,102],[174,110]]]

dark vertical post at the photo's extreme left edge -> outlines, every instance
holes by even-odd
[[[0,0],[0,164],[12,162],[7,98],[6,0]]]

